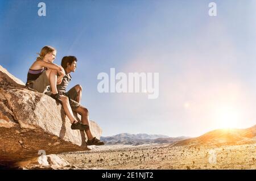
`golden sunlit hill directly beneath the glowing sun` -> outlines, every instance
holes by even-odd
[[[256,125],[246,129],[216,129],[196,138],[181,140],[172,146],[239,145],[250,142],[256,142]]]

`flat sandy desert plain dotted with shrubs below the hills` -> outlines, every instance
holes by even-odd
[[[79,169],[256,169],[256,143],[232,146],[104,145],[58,154]]]

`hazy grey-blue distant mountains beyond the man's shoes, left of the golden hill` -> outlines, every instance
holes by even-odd
[[[101,137],[106,145],[143,145],[143,144],[163,144],[174,143],[185,140],[189,137],[169,137],[161,134],[130,134],[121,133],[114,136]]]

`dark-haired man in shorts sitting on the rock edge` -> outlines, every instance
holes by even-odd
[[[68,92],[66,91],[69,82],[72,77],[70,75],[71,72],[76,71],[77,66],[77,58],[75,56],[65,56],[61,60],[61,66],[65,70],[65,75],[63,77],[60,85],[57,85],[57,91],[60,94],[61,102],[69,102],[72,111],[77,112],[81,115],[82,124],[88,125],[88,128],[85,129],[85,133],[88,137],[87,145],[104,145],[103,141],[98,140],[96,137],[92,136],[89,128],[89,112],[88,109],[81,106],[81,98],[82,98],[82,87],[80,85],[76,85],[72,87]]]

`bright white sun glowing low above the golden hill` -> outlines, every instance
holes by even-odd
[[[241,121],[241,112],[235,107],[218,107],[215,112],[215,119],[218,128],[238,128]]]

